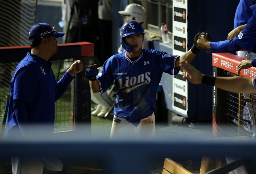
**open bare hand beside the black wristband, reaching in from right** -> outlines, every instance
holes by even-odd
[[[188,61],[180,61],[180,67],[182,67],[188,73],[188,76],[186,76],[186,74],[183,75],[183,79],[186,79],[193,84],[202,83],[203,74],[193,67]]]

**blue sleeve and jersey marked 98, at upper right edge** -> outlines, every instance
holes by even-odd
[[[242,30],[234,39],[210,42],[211,49],[219,51],[239,51],[246,49],[250,51],[256,45],[256,5],[250,6],[252,17],[248,20],[245,29]]]

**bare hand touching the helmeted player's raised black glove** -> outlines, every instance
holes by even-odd
[[[197,33],[197,35],[195,35],[195,38],[194,38],[194,44],[196,44],[195,46],[200,50],[211,49],[210,48],[211,40],[212,40],[212,38],[210,37],[210,35],[208,33],[205,33],[205,32],[202,32],[200,34]],[[195,41],[196,41],[196,43],[195,43]]]

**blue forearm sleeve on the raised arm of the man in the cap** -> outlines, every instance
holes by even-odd
[[[61,98],[61,96],[66,92],[69,84],[72,82],[73,79],[74,77],[66,71],[63,77],[58,82],[56,82],[54,97],[55,101]]]

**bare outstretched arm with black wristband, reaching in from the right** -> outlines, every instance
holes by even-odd
[[[237,93],[256,93],[256,90],[252,84],[252,79],[246,77],[210,77],[203,75],[195,67],[193,67],[189,62],[180,62],[180,67],[182,67],[187,73],[188,76],[183,76],[183,79],[186,79],[193,84],[209,84],[216,86],[222,90],[237,92]]]

